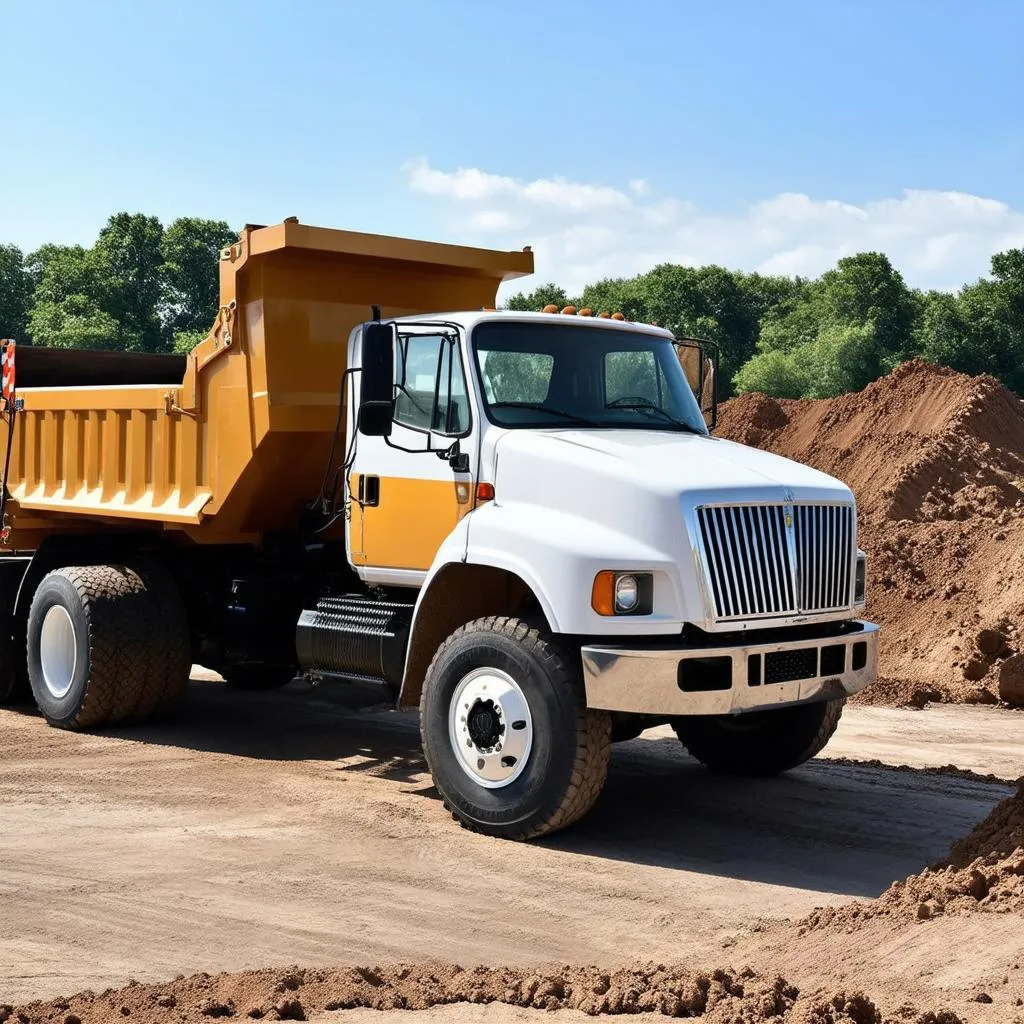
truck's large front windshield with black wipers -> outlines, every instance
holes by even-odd
[[[474,330],[473,353],[487,418],[500,426],[708,433],[669,338],[490,322]]]

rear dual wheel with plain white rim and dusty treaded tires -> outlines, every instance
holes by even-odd
[[[141,722],[180,700],[188,625],[159,565],[86,565],[46,575],[32,599],[28,667],[50,725]]]

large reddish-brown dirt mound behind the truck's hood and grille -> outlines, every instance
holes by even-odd
[[[879,684],[861,699],[1024,706],[1024,402],[921,359],[829,399],[742,395],[721,436],[830,473],[858,503]],[[1016,656],[1015,656],[1016,655]]]

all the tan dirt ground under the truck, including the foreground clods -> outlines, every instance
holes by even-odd
[[[424,1024],[519,1024],[540,1001],[570,1024],[595,1009],[699,1013],[706,985],[709,1024],[1024,1014],[1018,912],[800,924],[885,893],[986,819],[1024,761],[1017,714],[853,708],[831,760],[765,780],[716,778],[652,730],[616,748],[586,822],[523,847],[455,828],[415,716],[351,699],[200,683],[179,723],[109,735],[0,713],[10,1019],[273,1020],[297,999],[322,1022],[397,1024],[419,1014],[373,1008],[434,1004]],[[945,767],[953,750],[973,771]],[[986,850],[1012,818],[990,818]],[[297,966],[261,969],[273,964]],[[466,997],[499,1001],[451,1001]]]

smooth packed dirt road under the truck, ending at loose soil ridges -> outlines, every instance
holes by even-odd
[[[878,895],[1010,792],[825,758],[719,779],[659,730],[616,748],[581,826],[498,843],[374,699],[201,682],[179,723],[109,735],[0,712],[0,1001],[293,963],[709,963],[759,919]],[[827,755],[1009,779],[1022,722],[850,708]]]

